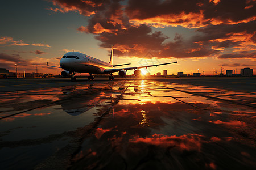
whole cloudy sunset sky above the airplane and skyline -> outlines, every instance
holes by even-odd
[[[55,73],[60,57],[77,51],[147,69],[213,75],[250,67],[256,74],[255,0],[37,0],[0,6],[0,67]],[[153,58],[151,58],[153,57]],[[57,74],[62,70],[57,69]],[[128,73],[133,74],[133,73]]]

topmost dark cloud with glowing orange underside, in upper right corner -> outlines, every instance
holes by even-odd
[[[255,16],[255,2],[248,0],[129,0],[126,7],[130,19],[164,22],[166,25],[202,27],[208,24],[247,22]],[[169,18],[167,19],[167,17]],[[196,17],[194,17],[196,16]],[[158,18],[159,20],[155,20]],[[174,18],[174,19],[172,19]],[[175,19],[176,18],[176,19]],[[192,22],[192,20],[194,20]]]

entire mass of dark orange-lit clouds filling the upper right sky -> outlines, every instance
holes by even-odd
[[[90,16],[88,25],[77,28],[92,33],[100,46],[114,45],[116,56],[209,57],[220,55],[225,48],[236,51],[255,50],[255,2],[203,0],[53,0],[60,8],[53,11],[79,11]],[[198,28],[191,39],[176,35],[172,41],[152,27],[177,26]],[[219,58],[254,58],[253,54],[222,54]]]

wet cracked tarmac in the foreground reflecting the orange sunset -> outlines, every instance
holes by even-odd
[[[154,80],[0,94],[1,169],[255,169],[256,93]]]

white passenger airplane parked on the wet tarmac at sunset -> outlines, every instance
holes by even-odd
[[[61,76],[71,77],[71,81],[76,81],[76,77],[75,77],[76,73],[89,73],[88,80],[94,80],[93,74],[110,74],[109,80],[114,80],[114,76],[113,76],[114,72],[118,72],[119,76],[125,77],[127,70],[134,70],[134,75],[138,76],[141,74],[141,70],[139,69],[142,69],[145,67],[147,68],[147,67],[154,67],[154,66],[156,67],[160,65],[168,65],[172,63],[177,63],[177,61],[157,64],[157,65],[114,69],[114,67],[130,65],[130,63],[113,65],[113,45],[112,45],[109,62],[101,61],[100,59],[90,57],[80,52],[68,52],[64,54],[64,56],[60,59],[60,67],[49,66],[48,62],[47,62],[47,66],[64,69],[64,71],[61,72]]]

